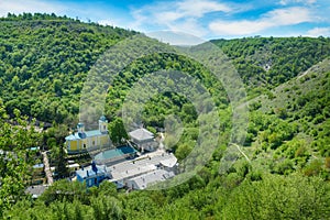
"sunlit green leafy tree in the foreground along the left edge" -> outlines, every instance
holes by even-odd
[[[19,125],[10,124],[7,112],[0,100],[0,217],[6,209],[25,197],[24,188],[29,178],[29,169],[33,161],[29,160],[26,148],[31,143],[38,142],[34,127],[28,127],[26,118],[14,110],[13,121]]]

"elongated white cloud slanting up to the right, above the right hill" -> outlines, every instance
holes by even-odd
[[[258,32],[271,28],[294,25],[311,21],[312,16],[307,8],[293,7],[270,11],[257,20],[213,21],[209,24],[209,29],[219,35],[246,35],[258,34]]]

